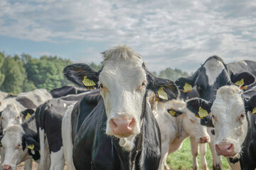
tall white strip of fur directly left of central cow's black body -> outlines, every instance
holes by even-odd
[[[72,126],[71,113],[75,104],[68,106],[68,110],[63,116],[61,123],[61,135],[63,138],[63,152],[65,161],[67,162],[68,170],[75,170],[73,163],[73,142],[72,142]]]

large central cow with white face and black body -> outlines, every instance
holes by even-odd
[[[154,77],[127,45],[102,54],[99,72],[87,64],[63,70],[78,86],[100,88],[78,101],[70,115],[72,143],[67,145],[73,145],[75,169],[158,169],[161,136],[146,94],[151,90],[160,101],[169,101],[178,88],[174,81]]]

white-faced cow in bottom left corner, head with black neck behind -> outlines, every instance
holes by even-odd
[[[4,148],[4,158],[1,158],[3,170],[16,169],[17,164],[28,159],[35,161],[40,159],[40,146],[34,115],[21,125],[9,125],[4,136],[0,138]]]

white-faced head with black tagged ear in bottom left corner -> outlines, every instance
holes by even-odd
[[[16,165],[31,158],[28,155],[28,149],[38,151],[39,143],[29,137],[21,128],[21,125],[10,125],[6,128],[4,137],[1,140],[4,148],[4,160],[2,160],[2,169],[16,169]]]

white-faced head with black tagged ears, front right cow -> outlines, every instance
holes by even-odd
[[[254,113],[254,109],[256,113],[256,96],[245,100],[238,86],[223,86],[218,89],[214,101],[196,98],[189,100],[187,104],[196,115],[199,110],[210,113],[215,127],[216,152],[225,157],[239,158],[247,135],[246,117],[251,112]]]

